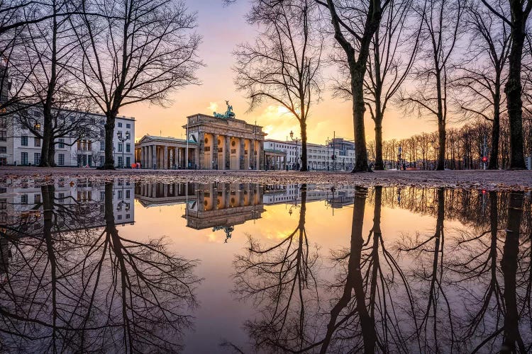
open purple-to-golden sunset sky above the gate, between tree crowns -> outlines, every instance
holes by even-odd
[[[205,67],[201,67],[197,76],[200,86],[186,86],[170,95],[172,103],[167,107],[147,103],[129,105],[121,109],[120,115],[134,117],[135,139],[145,134],[164,137],[184,138],[183,125],[187,116],[196,113],[212,114],[226,111],[228,100],[233,105],[236,118],[264,127],[267,139],[289,139],[289,132],[294,137],[300,136],[297,119],[271,102],[264,102],[260,107],[248,112],[248,101],[244,92],[235,90],[233,84],[233,50],[243,42],[252,41],[257,30],[245,21],[245,13],[250,8],[248,0],[238,0],[229,6],[223,0],[187,0],[189,11],[197,13],[196,32],[203,40],[198,55]],[[333,38],[328,38],[333,40]],[[327,83],[326,83],[327,84]],[[405,117],[397,109],[389,108],[384,116],[384,139],[401,139],[420,132],[433,132],[436,122],[417,116]],[[372,120],[365,119],[367,141],[374,139]],[[325,144],[326,139],[345,137],[353,139],[353,113],[350,101],[333,98],[326,89],[322,101],[314,108],[307,121],[308,141]]]

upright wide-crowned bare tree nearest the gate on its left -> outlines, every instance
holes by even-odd
[[[82,1],[72,28],[82,49],[73,72],[106,115],[104,169],[114,169],[113,132],[124,105],[164,105],[168,93],[198,84],[194,14],[179,0]]]

